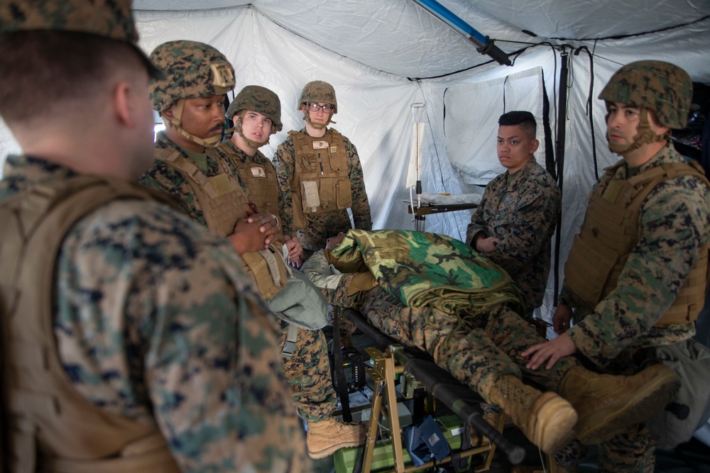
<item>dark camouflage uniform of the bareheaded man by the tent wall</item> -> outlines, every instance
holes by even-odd
[[[479,231],[501,239],[486,257],[518,283],[528,314],[545,296],[559,207],[555,180],[532,157],[518,172],[505,172],[488,182],[466,228],[466,242],[474,247],[472,238]]]

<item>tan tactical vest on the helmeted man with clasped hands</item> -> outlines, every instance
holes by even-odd
[[[213,177],[205,176],[190,160],[170,149],[158,150],[155,159],[163,161],[185,177],[200,203],[207,228],[222,236],[234,233],[240,218],[249,215],[249,201],[239,182],[224,169],[221,159],[217,162],[222,172]],[[268,250],[240,255],[244,269],[251,276],[264,299],[271,299],[286,284],[286,268],[279,246],[270,245]]]

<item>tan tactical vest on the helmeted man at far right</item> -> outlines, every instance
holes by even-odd
[[[564,265],[565,284],[577,302],[590,309],[616,287],[630,252],[638,243],[638,215],[648,194],[661,182],[678,176],[695,176],[710,186],[702,168],[694,162],[664,164],[630,179],[613,179],[621,165],[607,169],[601,177]],[[709,245],[701,248],[688,279],[656,325],[697,319],[705,301],[709,250]]]

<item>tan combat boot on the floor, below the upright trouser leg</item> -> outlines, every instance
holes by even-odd
[[[365,429],[359,423],[338,422],[329,417],[320,422],[308,422],[306,447],[313,460],[332,455],[344,447],[357,447],[365,442]]]

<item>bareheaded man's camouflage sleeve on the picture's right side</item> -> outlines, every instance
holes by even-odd
[[[548,244],[560,204],[557,188],[547,186],[533,185],[522,195],[514,195],[513,199],[517,201],[513,225],[501,233],[488,235],[501,241],[495,250],[486,253],[486,257],[509,274],[515,274],[527,265]]]

